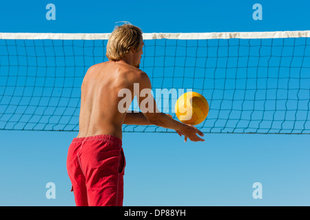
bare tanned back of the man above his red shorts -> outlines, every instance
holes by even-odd
[[[88,69],[81,87],[81,110],[78,137],[114,135],[122,138],[126,113],[118,111],[118,91],[133,93],[135,75],[140,69],[131,65],[108,61]],[[132,96],[133,100],[134,96]]]

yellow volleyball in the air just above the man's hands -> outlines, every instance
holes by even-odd
[[[207,118],[209,104],[202,95],[189,91],[178,98],[174,110],[180,122],[196,125]]]

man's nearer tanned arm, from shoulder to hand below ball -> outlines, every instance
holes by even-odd
[[[185,135],[185,142],[187,141],[187,137],[189,138],[189,140],[192,140],[194,142],[205,141],[202,138],[198,137],[197,134],[203,136],[203,133],[196,129],[196,127],[178,122],[169,115],[158,111],[156,101],[154,100],[154,97],[151,93],[152,85],[149,77],[147,76],[147,74],[145,74],[145,72],[141,72],[138,75],[137,81],[139,83],[139,94],[135,95],[137,96],[138,104],[142,113],[145,115],[145,118],[147,118],[150,124],[161,126],[166,129],[173,129],[176,130],[178,133],[182,133],[183,135]],[[145,101],[143,102],[145,98],[147,98],[147,107],[142,105],[142,103],[145,103]]]

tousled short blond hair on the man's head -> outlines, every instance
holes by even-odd
[[[120,61],[130,50],[138,49],[142,40],[142,31],[132,24],[124,24],[114,28],[107,41],[106,56],[110,61]]]

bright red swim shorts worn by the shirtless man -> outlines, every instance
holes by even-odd
[[[68,149],[67,170],[76,206],[123,206],[124,168],[120,138],[74,138]]]

